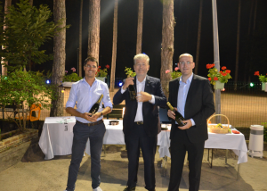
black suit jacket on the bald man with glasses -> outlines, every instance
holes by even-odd
[[[174,107],[177,107],[179,81],[180,78],[169,83],[169,102]],[[214,95],[209,80],[194,74],[184,106],[184,119],[193,119],[196,123],[195,126],[186,129],[191,143],[198,143],[207,139],[206,120],[214,112]],[[175,127],[175,120],[172,120],[171,138],[174,137],[176,130],[181,129]]]

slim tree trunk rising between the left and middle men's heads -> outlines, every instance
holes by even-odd
[[[117,0],[115,0],[114,4],[113,46],[112,46],[112,62],[111,62],[111,72],[110,72],[110,88],[109,88],[110,92],[114,92],[116,57],[117,57]]]

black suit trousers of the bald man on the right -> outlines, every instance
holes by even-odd
[[[179,191],[182,179],[182,168],[186,151],[189,160],[190,191],[198,191],[201,175],[201,164],[204,152],[204,142],[190,143],[185,130],[176,130],[171,139],[171,175],[168,191]]]

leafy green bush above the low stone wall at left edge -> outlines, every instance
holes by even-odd
[[[15,70],[2,76],[0,81],[0,103],[3,105],[15,104],[16,108],[23,103],[26,108],[31,104],[41,104],[42,108],[50,108],[51,100],[56,99],[55,87],[45,84],[45,77],[39,71]],[[29,111],[24,112],[27,116]],[[18,112],[18,117],[21,113]],[[14,119],[12,119],[14,120]],[[20,130],[26,128],[26,122],[14,120]]]

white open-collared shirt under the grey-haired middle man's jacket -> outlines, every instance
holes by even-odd
[[[136,92],[137,95],[142,91],[144,92],[144,87],[146,84],[146,78],[142,80],[142,82],[140,82],[138,79],[136,79]],[[124,94],[126,90],[124,90],[123,88],[121,88],[121,93]],[[150,104],[155,104],[155,96],[152,95],[151,100],[149,101]],[[142,102],[138,102],[137,103],[137,111],[136,111],[136,115],[135,115],[135,121],[143,121],[143,117],[142,117]]]

